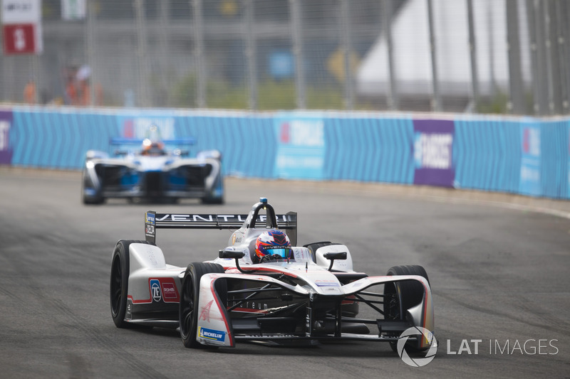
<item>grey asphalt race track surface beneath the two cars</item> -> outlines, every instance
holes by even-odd
[[[357,183],[226,185],[222,206],[85,206],[78,173],[1,169],[0,378],[570,378],[568,202]],[[423,265],[435,359],[411,367],[388,345],[364,342],[201,351],[175,331],[115,328],[111,252],[119,239],[142,239],[145,210],[247,213],[259,196],[299,213],[300,244],[348,245],[357,270]],[[159,230],[157,245],[185,267],[213,259],[228,237]]]

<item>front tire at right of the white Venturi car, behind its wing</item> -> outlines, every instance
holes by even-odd
[[[418,275],[420,277],[425,277],[427,283],[430,282],[425,269],[416,265],[390,267],[386,275]],[[401,306],[398,299],[398,292],[400,292],[400,298],[402,299]],[[410,309],[412,306],[420,304],[423,299],[423,292],[423,285],[417,281],[385,284],[384,295],[388,295],[390,297],[390,301],[388,301],[388,297],[384,297],[385,319],[404,320],[405,311]],[[400,314],[400,309],[402,309],[404,314]],[[390,342],[390,347],[393,351],[398,351],[397,343]],[[414,348],[414,346],[410,345],[410,348]]]

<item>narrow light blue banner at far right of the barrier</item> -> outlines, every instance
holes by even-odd
[[[522,122],[519,193],[524,195],[541,195],[540,147],[540,125],[532,122]]]

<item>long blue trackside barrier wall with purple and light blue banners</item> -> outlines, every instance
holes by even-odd
[[[193,137],[224,174],[570,198],[570,118],[358,112],[0,108],[0,164],[77,170],[113,137]]]

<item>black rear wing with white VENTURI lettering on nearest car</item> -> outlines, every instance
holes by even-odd
[[[156,245],[156,230],[164,229],[239,229],[261,228],[261,225],[269,228],[269,220],[266,215],[257,215],[255,223],[247,225],[248,215],[220,214],[220,215],[197,215],[182,213],[156,213],[149,210],[145,213],[145,239],[148,243]],[[287,230],[291,245],[297,243],[297,213],[289,212],[285,215],[275,215],[277,228]]]

